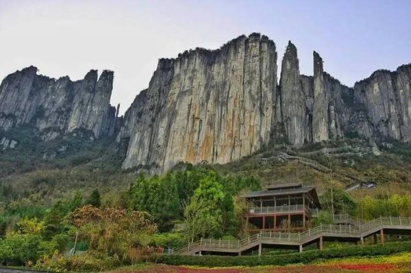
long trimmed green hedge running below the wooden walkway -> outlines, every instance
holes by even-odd
[[[257,265],[288,265],[292,263],[310,263],[318,259],[333,259],[344,257],[365,257],[376,255],[391,255],[397,252],[411,251],[411,242],[388,243],[373,246],[350,246],[346,248],[329,248],[325,250],[310,250],[287,255],[266,256],[183,256],[164,255],[160,263],[169,265],[200,265],[206,267],[227,266],[257,266]]]

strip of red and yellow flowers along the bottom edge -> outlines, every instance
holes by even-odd
[[[371,258],[316,261],[309,265],[260,266],[256,268],[196,268],[162,264],[139,264],[107,273],[334,273],[334,272],[411,272],[411,252]]]

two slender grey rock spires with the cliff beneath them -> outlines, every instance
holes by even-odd
[[[282,122],[294,146],[343,136],[349,109],[343,97],[350,88],[323,71],[323,60],[314,51],[314,77],[299,75],[297,49],[288,42],[279,81]]]

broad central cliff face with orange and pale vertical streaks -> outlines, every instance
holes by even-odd
[[[274,42],[257,34],[217,51],[160,60],[148,90],[134,102],[143,108],[133,106],[125,116],[125,124],[138,125],[122,130],[130,138],[123,166],[226,163],[268,144],[276,62]]]

